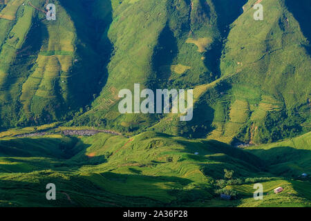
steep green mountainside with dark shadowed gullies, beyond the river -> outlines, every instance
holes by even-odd
[[[66,122],[255,144],[308,133],[310,10],[308,0],[0,0],[0,128]],[[194,118],[122,115],[118,93],[135,83],[194,89]]]

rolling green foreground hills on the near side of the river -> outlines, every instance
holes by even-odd
[[[308,144],[310,133],[292,142]],[[283,201],[310,206],[310,194],[303,191],[310,189],[310,182],[297,180],[301,169],[283,173],[270,166],[275,165],[270,150],[281,152],[284,147],[279,146],[285,143],[258,146],[261,152],[247,153],[216,141],[153,132],[130,138],[104,133],[1,138],[0,205],[276,206]],[[300,151],[293,148],[292,160],[299,160],[308,172],[310,160],[301,159]],[[303,151],[309,154],[310,145]],[[224,169],[234,171],[234,180],[222,181]],[[49,182],[57,186],[56,201],[45,199]],[[263,201],[252,198],[253,182],[262,182],[264,192],[270,193]],[[280,185],[284,193],[272,194]],[[236,191],[237,198],[220,200],[217,190],[223,186]]]

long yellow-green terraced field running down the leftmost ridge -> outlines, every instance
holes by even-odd
[[[27,8],[31,8],[28,6]],[[66,14],[60,13],[61,17]],[[70,77],[68,71],[73,66],[73,24],[67,23],[64,27],[58,23],[46,23],[48,30],[48,42],[41,46],[37,57],[37,68],[28,77],[22,86],[21,103],[26,113],[30,113],[30,106],[34,95],[44,98],[53,98],[55,93],[55,81],[66,84],[66,78]],[[70,28],[71,27],[71,28]],[[62,76],[62,80],[59,77]],[[62,84],[63,90],[66,85]]]

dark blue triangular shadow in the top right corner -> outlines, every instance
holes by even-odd
[[[311,1],[310,0],[285,0],[286,6],[288,6],[288,10],[292,12],[294,18],[299,22],[299,26],[303,35],[311,41]],[[311,55],[311,46],[305,46],[309,55]]]

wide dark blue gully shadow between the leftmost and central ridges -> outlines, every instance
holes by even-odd
[[[106,85],[107,65],[113,52],[108,30],[113,21],[111,1],[104,1],[102,15],[95,15],[95,1],[62,1],[77,31],[77,55],[79,59],[73,73],[79,73],[71,79],[70,90],[75,92],[80,106],[90,104]]]

